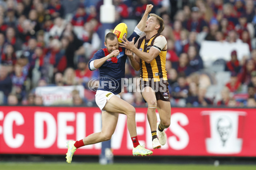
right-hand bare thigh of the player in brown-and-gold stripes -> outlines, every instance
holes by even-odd
[[[159,113],[160,121],[166,125],[170,124],[171,103],[163,100],[157,100],[157,111]]]

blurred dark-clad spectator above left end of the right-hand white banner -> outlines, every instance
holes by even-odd
[[[196,31],[199,33],[203,31],[204,27],[207,26],[207,23],[200,17],[198,7],[195,6],[191,10],[191,18],[186,22],[185,27],[189,31]]]

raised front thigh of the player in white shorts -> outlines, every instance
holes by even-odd
[[[135,108],[132,105],[117,96],[112,96],[111,99],[107,100],[104,110],[113,113],[123,114],[127,114],[130,112],[135,113]]]

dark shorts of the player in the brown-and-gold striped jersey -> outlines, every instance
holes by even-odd
[[[143,88],[149,86],[155,92],[157,100],[170,102],[168,85],[169,84],[167,80],[166,81],[164,80],[162,82],[151,82],[151,81],[147,82],[147,81],[140,80],[140,93],[142,92]]]

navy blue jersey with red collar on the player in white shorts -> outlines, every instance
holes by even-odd
[[[139,35],[133,32],[128,38],[128,41],[131,41],[135,37],[134,42],[139,39]],[[127,55],[125,55],[125,48],[119,47],[120,51],[117,57],[112,57],[99,67],[99,88],[98,90],[110,91],[113,94],[119,94],[121,92],[121,79],[125,77],[125,61]],[[110,54],[107,48],[98,50],[93,58],[90,59],[88,65],[90,68],[90,62],[95,59],[101,59]]]

